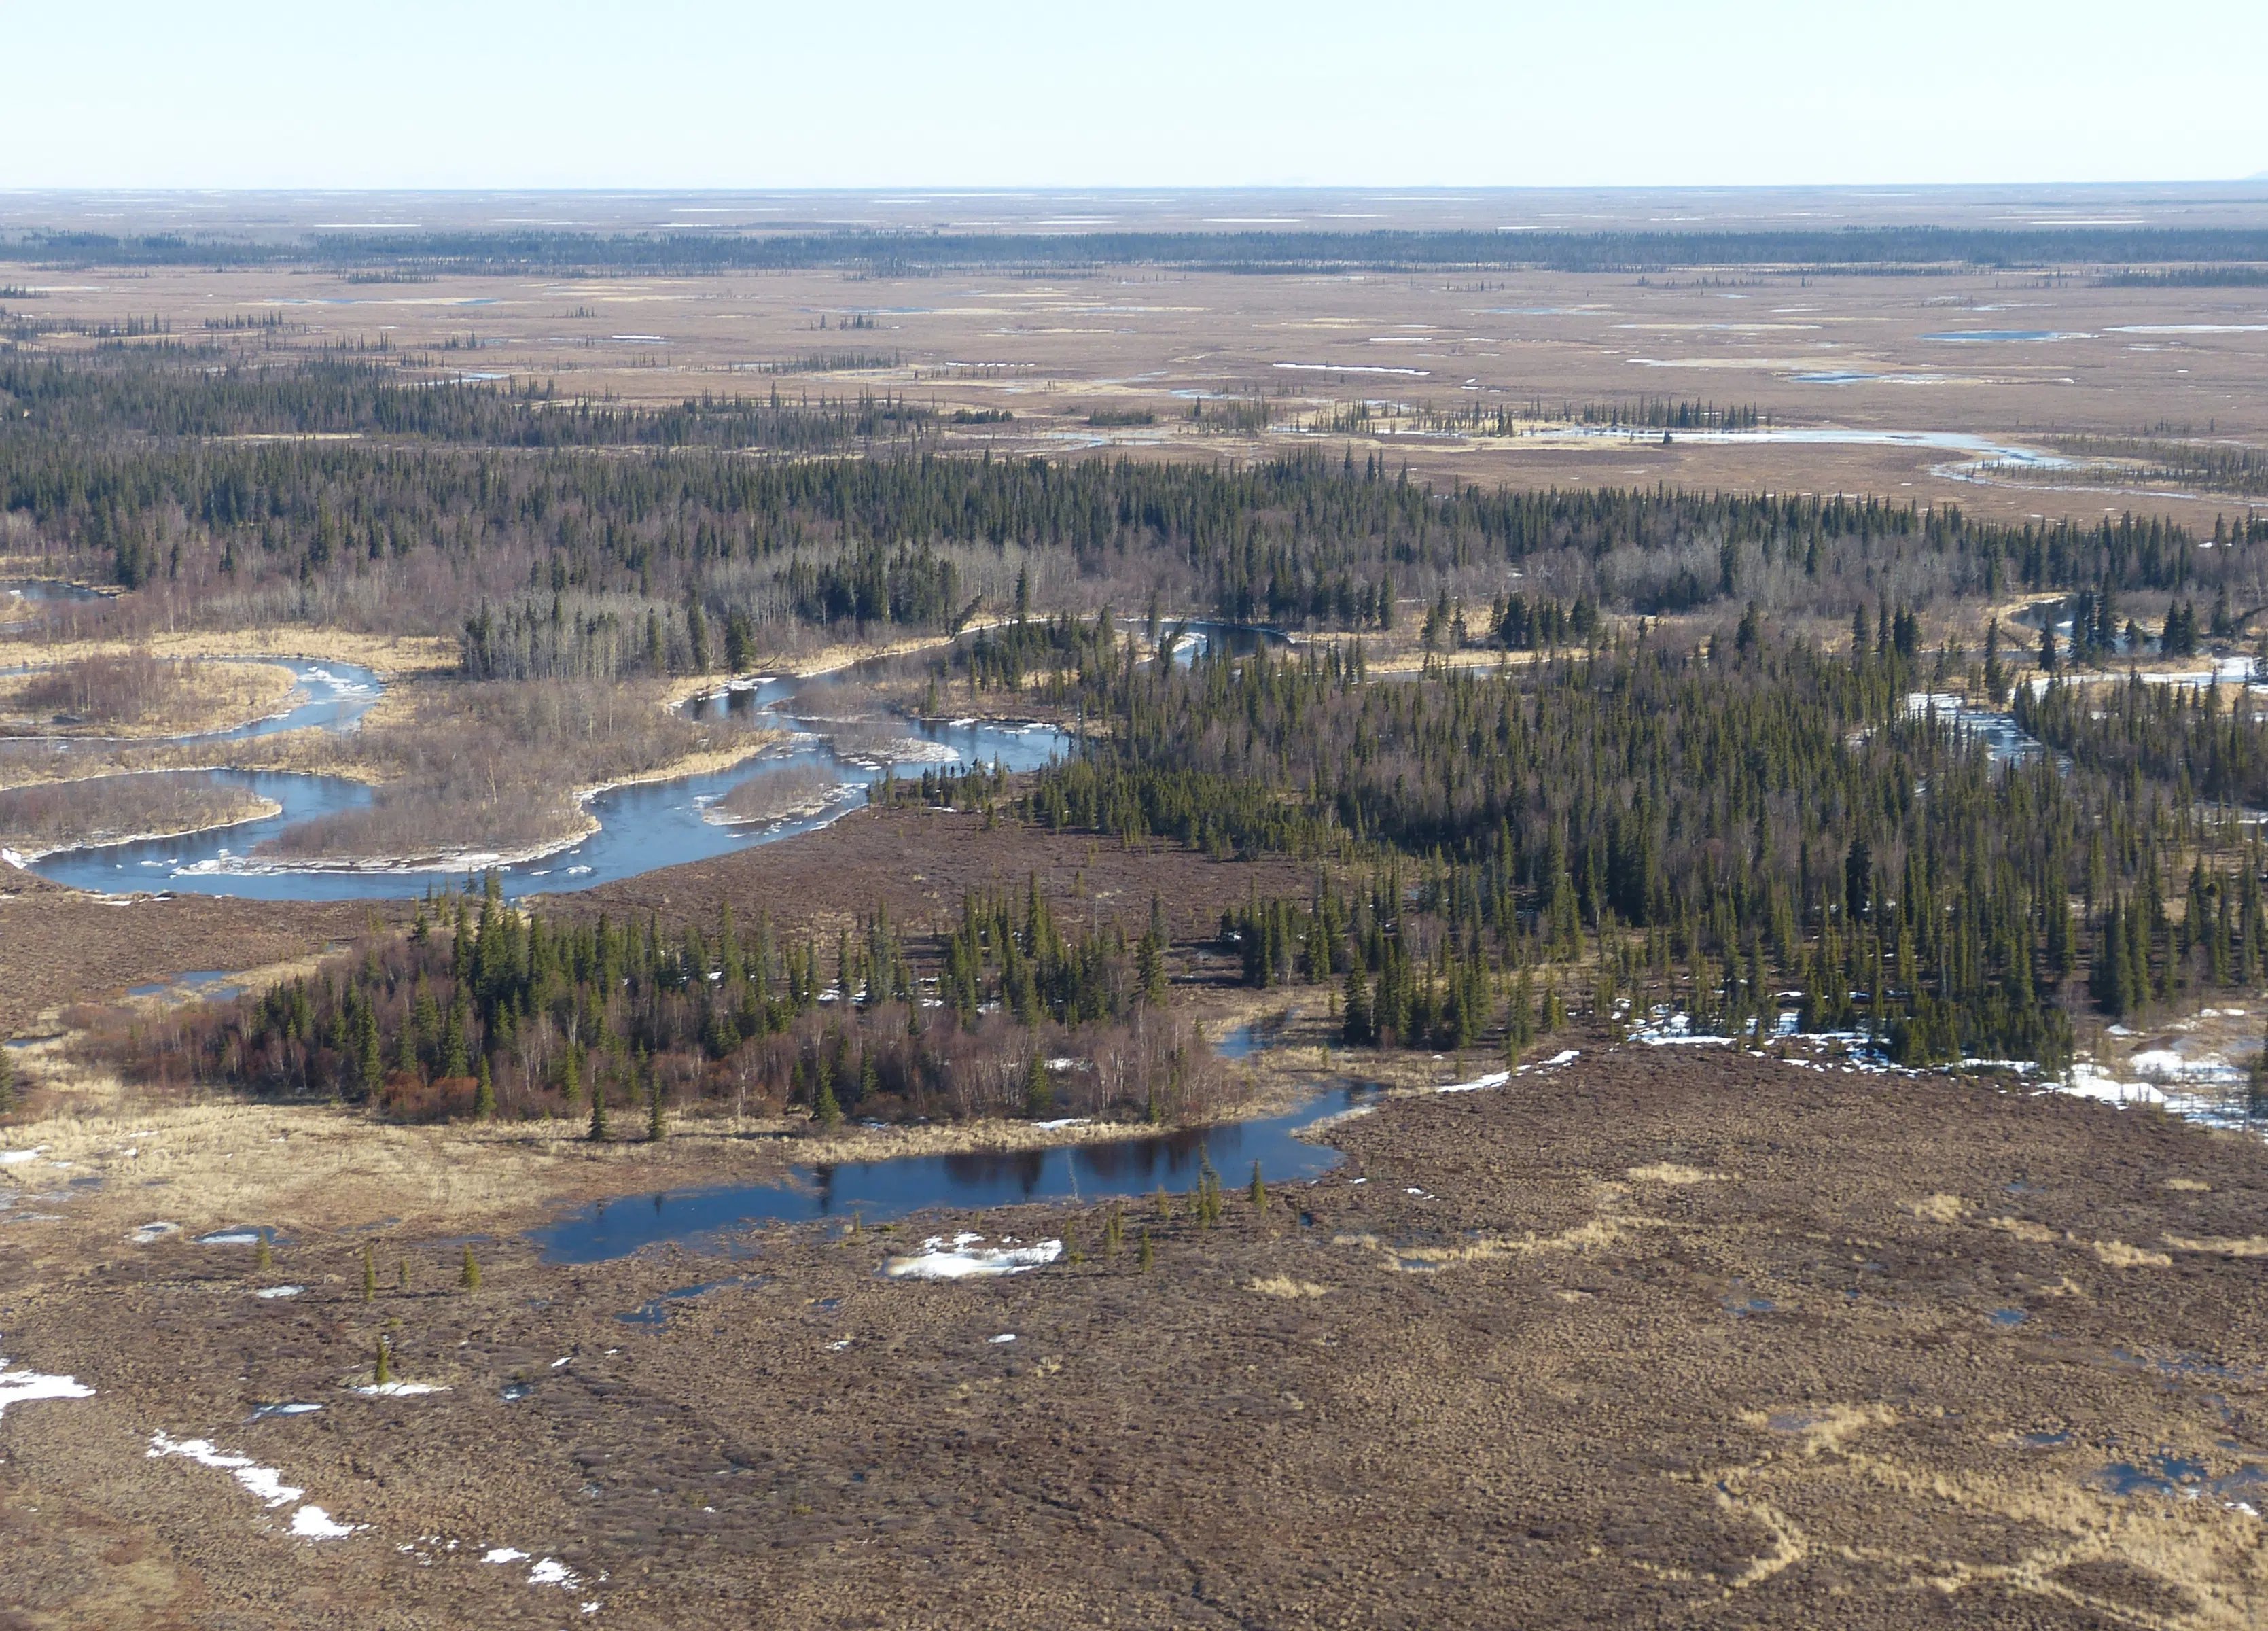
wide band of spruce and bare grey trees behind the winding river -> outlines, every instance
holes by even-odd
[[[1633,420],[1712,413],[1644,402]],[[508,603],[565,628],[574,601],[628,597],[615,610],[633,647],[660,617],[687,658],[689,606],[717,640],[735,617],[950,626],[973,597],[1005,599],[1023,565],[1009,551],[1043,563],[1057,606],[1132,610],[1166,583],[1179,610],[1370,628],[1397,599],[1442,594],[1445,624],[1458,597],[1479,622],[1515,574],[1538,606],[1647,617],[1758,601],[1844,619],[1885,594],[1926,610],[2016,588],[2209,599],[2268,542],[2268,517],[2200,549],[2136,517],[2009,526],[1810,495],[1431,485],[1352,449],[1243,467],[968,458],[932,451],[930,420],[894,397],[562,404],[345,358],[206,372],[0,356],[0,510],[82,576],[186,601],[290,590],[295,615],[320,597],[333,619],[438,633]],[[866,449],[889,456],[839,456]],[[574,653],[531,671],[553,660],[615,671]]]

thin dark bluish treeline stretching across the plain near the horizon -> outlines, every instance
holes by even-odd
[[[1089,234],[313,234],[306,238],[20,231],[0,254],[43,265],[318,265],[497,274],[764,272],[848,268],[1182,265],[1542,268],[1660,272],[1685,265],[1935,268],[2268,263],[2268,231],[2234,227],[1844,227],[1837,231],[1089,231]]]

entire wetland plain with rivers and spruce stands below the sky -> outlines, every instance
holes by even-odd
[[[1490,197],[0,202],[0,1631],[2268,1622],[2268,218]]]

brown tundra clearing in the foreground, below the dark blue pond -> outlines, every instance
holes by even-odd
[[[404,1626],[556,1624],[596,1602],[653,1626],[2241,1626],[2268,1606],[2261,1259],[2216,1245],[2257,1232],[2268,1157],[2146,1112],[1592,1043],[1340,1123],[1347,1164],[1266,1216],[1232,1193],[1207,1232],[1136,1205],[1150,1273],[1132,1227],[1098,1250],[1098,1207],[547,1266],[517,1229],[558,1200],[778,1157],[708,1143],[640,1171],[565,1146],[531,1171],[236,1112],[272,1130],[234,1127],[240,1171],[200,1195],[200,1114],[7,1173],[102,1180],[0,1232],[11,1357],[93,1388],[0,1425],[25,1624],[354,1624],[381,1602]],[[483,1195],[490,1155],[528,1182]],[[479,1291],[456,1284],[463,1227],[417,1205],[440,1171],[479,1202]],[[134,1243],[152,1218],[181,1227]],[[245,1223],[279,1232],[270,1270],[249,1234],[195,1241]],[[923,1234],[1066,1225],[1089,1261],[878,1273]],[[302,1291],[256,1295],[277,1284]],[[381,1334],[399,1386],[356,1393]],[[354,1529],[295,1538],[211,1463],[152,1459],[154,1434]]]

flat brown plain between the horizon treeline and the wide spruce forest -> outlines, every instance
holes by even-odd
[[[1098,268],[1084,274],[771,272],[542,281],[442,274],[413,286],[333,274],[136,268],[68,279],[0,263],[27,315],[84,324],[284,318],[279,349],[431,347],[438,377],[553,381],[567,399],[674,404],[701,392],[903,392],[1009,422],[946,426],[941,447],[1136,458],[1252,458],[1322,440],[1417,474],[1515,485],[1878,492],[1980,515],[2148,510],[2211,529],[2243,497],[2152,481],[1973,479],[1926,445],[1622,436],[1440,436],[1424,415],[1531,404],[1706,399],[1776,426],[1935,431],[2039,445],[2050,433],[2173,426],[2259,449],[2268,295],[2096,288],[2080,277],[1281,274]],[[848,327],[857,322],[860,327]],[[821,327],[826,324],[826,327]],[[1953,336],[1953,338],[1946,338]],[[1966,338],[1964,336],[1975,336]],[[2003,336],[2003,338],[1980,338]],[[2019,336],[2019,338],[2005,338]],[[2053,340],[2030,336],[2059,336]],[[70,336],[43,345],[70,349]],[[447,347],[447,349],[442,349]],[[860,358],[828,372],[814,358]],[[789,365],[794,372],[764,372]],[[1266,402],[1243,433],[1222,404]],[[1377,424],[1343,422],[1368,404]],[[1191,420],[1193,408],[1209,420]],[[1150,424],[1109,424],[1152,415]],[[1102,415],[1102,424],[1091,417]],[[1379,433],[1390,424],[1395,433]],[[1524,426],[1533,429],[1533,426]]]

